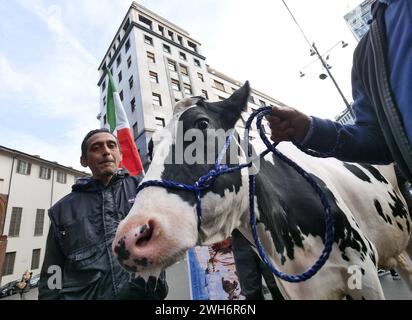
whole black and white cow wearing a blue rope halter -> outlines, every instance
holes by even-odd
[[[210,103],[191,98],[178,103],[174,118],[164,129],[169,134],[155,145],[144,181],[192,184],[213,168],[213,162],[174,161],[178,143],[187,151],[193,142],[177,141],[178,121],[183,132],[198,129],[204,133],[204,156],[216,155],[216,149],[221,148],[210,145],[214,138],[210,139],[214,132],[211,129],[234,128],[241,121],[249,93],[246,83],[225,101]],[[265,149],[260,139],[253,141],[253,148],[257,153]],[[281,143],[278,149],[323,187],[336,217],[335,241],[326,264],[305,282],[278,279],[282,295],[288,299],[382,299],[378,265],[402,267],[398,271],[412,289],[411,269],[407,267],[412,251],[411,218],[393,167],[378,171],[371,165],[313,158],[291,143]],[[239,163],[244,161],[242,154],[237,159]],[[254,243],[249,225],[248,183],[247,170],[217,178],[202,195],[200,230],[192,192],[143,189],[119,225],[113,242],[119,262],[130,271],[153,274],[181,259],[195,245],[223,241],[235,228]],[[325,241],[324,210],[313,189],[295,170],[268,154],[259,163],[255,205],[259,237],[272,263],[288,274],[306,271],[318,259]],[[350,285],[353,270],[360,275],[360,283],[355,286]]]

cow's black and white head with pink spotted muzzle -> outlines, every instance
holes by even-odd
[[[246,109],[249,93],[246,82],[224,101],[189,98],[179,102],[168,126],[153,136],[152,163],[143,182],[172,180],[193,184],[214,168],[227,132]],[[236,141],[234,144],[238,146]],[[233,159],[233,152],[228,152],[225,160],[229,165],[239,161]],[[203,192],[199,231],[193,192],[162,187],[143,189],[117,229],[114,254],[130,271],[155,273],[175,263],[197,244],[226,239],[248,207],[244,181],[237,171],[217,178]]]

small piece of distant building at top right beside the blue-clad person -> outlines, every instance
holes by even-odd
[[[372,19],[372,3],[373,1],[371,0],[364,0],[359,6],[344,16],[349,29],[358,41],[369,30],[368,22]]]

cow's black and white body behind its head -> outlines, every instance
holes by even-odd
[[[278,281],[283,295],[293,299],[382,298],[377,264],[395,267],[396,257],[410,238],[409,214],[396,184],[389,183],[396,182],[393,166],[384,168],[383,176],[370,165],[310,157],[290,143],[278,149],[323,187],[336,218],[328,262],[315,277],[298,285]],[[276,253],[272,258],[277,268],[290,274],[305,271],[324,247],[325,213],[316,193],[294,169],[269,154],[260,163],[256,203],[259,236],[265,251]],[[248,212],[241,221],[240,230],[251,239]],[[357,270],[362,272],[363,289],[352,283],[352,290],[349,283]]]

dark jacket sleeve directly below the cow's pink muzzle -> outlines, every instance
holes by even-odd
[[[166,272],[162,271],[159,278],[149,277],[146,282],[142,277],[131,275],[130,280],[119,291],[119,300],[164,300],[169,292],[166,282]]]

